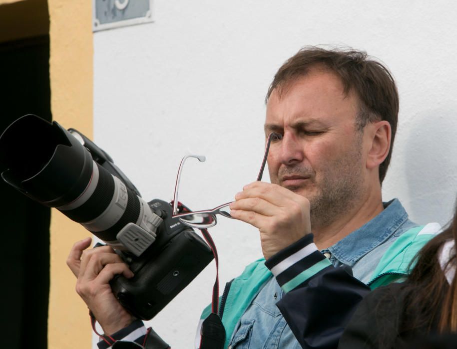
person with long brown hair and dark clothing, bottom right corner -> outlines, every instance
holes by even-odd
[[[454,241],[445,267],[443,246]],[[404,283],[369,294],[340,339],[339,349],[457,349],[457,211],[448,227],[418,253]],[[445,271],[452,272],[448,281]],[[449,272],[448,272],[449,273]]]

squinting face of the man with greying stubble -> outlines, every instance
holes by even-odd
[[[272,183],[308,198],[313,225],[330,223],[360,201],[363,192],[363,134],[356,130],[358,97],[345,95],[331,72],[312,70],[273,90],[265,135],[278,132],[268,168]]]

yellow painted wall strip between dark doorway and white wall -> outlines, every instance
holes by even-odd
[[[93,135],[91,3],[48,0],[52,119],[89,138]],[[65,263],[73,243],[90,234],[55,209],[50,234],[48,348],[90,348],[88,310],[75,292],[76,279]]]

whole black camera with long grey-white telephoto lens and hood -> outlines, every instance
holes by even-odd
[[[214,258],[173,218],[170,203],[144,201],[109,155],[74,129],[22,116],[0,136],[0,164],[8,184],[115,249],[135,276],[116,276],[111,288],[137,318],[152,319]]]

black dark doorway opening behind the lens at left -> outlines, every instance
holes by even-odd
[[[24,114],[51,120],[48,35],[0,43],[0,76],[0,132]],[[3,180],[0,192],[1,348],[44,349],[50,209],[28,199]]]

